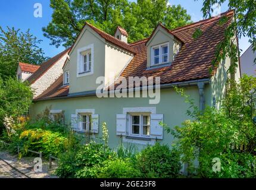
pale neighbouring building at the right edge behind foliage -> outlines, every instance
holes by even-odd
[[[252,75],[254,77],[256,76],[256,65],[254,64],[254,59],[256,59],[256,52],[252,50],[251,45],[240,57],[242,74]]]

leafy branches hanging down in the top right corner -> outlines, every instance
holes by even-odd
[[[198,1],[198,0],[195,0]],[[211,17],[211,12],[216,7],[216,3],[220,6],[226,0],[204,0],[202,12],[204,18]],[[224,39],[218,44],[216,49],[216,59],[213,60],[213,66],[216,66],[221,59],[229,55],[233,59],[234,64],[230,66],[233,72],[238,66],[239,48],[234,36],[248,36],[249,42],[252,43],[253,50],[256,50],[256,1],[255,0],[229,0],[229,9],[234,9],[234,20],[227,27]],[[220,24],[227,21],[226,17],[221,18]],[[256,59],[254,60],[256,62]]]

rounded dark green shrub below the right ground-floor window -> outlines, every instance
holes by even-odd
[[[138,156],[143,178],[177,178],[181,169],[180,155],[167,145],[148,145]]]

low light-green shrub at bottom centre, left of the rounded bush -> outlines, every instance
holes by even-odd
[[[98,178],[139,178],[141,172],[130,159],[106,160],[103,167],[97,168]]]

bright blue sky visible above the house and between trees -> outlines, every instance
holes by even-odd
[[[136,1],[136,0],[133,0]],[[34,4],[42,4],[42,18],[34,17]],[[171,5],[182,5],[183,8],[187,9],[188,14],[191,15],[193,21],[202,20],[202,0],[170,0]],[[221,7],[221,12],[227,10],[227,2]],[[1,0],[0,6],[0,26],[10,26],[15,29],[21,29],[26,31],[30,29],[30,33],[43,40],[40,47],[45,52],[46,56],[52,57],[57,53],[64,50],[64,47],[50,46],[50,40],[43,37],[42,27],[48,25],[51,21],[52,9],[49,7],[49,0]],[[243,52],[249,47],[247,37],[243,37],[239,40],[239,47]]]

